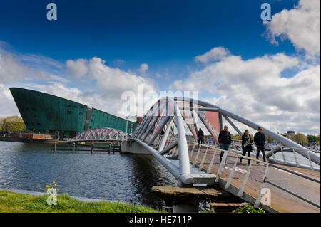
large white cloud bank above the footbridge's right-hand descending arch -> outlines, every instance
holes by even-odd
[[[277,132],[320,131],[320,65],[301,70],[292,78],[283,70],[300,68],[297,58],[284,53],[249,60],[228,55],[195,70],[171,88],[198,90],[205,101],[220,105]],[[203,100],[203,98],[200,98]]]

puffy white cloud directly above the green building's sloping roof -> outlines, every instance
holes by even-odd
[[[141,68],[144,73],[148,69],[148,65],[142,65]],[[106,65],[105,60],[101,58],[93,57],[90,60],[68,60],[66,66],[71,76],[79,78],[79,75],[81,75],[81,78],[95,82],[96,90],[91,94],[96,94],[93,102],[103,100],[99,108],[104,111],[111,111],[112,114],[121,115],[121,105],[123,105],[124,102],[121,100],[121,95],[124,92],[130,91],[137,96],[138,86],[143,86],[144,94],[148,91],[158,91],[154,80],[136,75],[131,70],[126,72],[119,68],[111,68]],[[149,102],[151,99],[152,97],[147,97],[144,103]],[[136,106],[137,103],[138,102],[135,103]]]

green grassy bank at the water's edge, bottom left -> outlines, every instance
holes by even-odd
[[[8,190],[0,190],[0,213],[158,213],[148,206],[122,202],[85,202],[71,198],[68,194],[57,197],[57,205],[47,204],[47,195],[31,196]]]

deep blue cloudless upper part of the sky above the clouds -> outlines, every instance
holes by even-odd
[[[182,77],[193,57],[224,46],[243,59],[295,53],[290,41],[263,37],[260,5],[272,14],[297,1],[54,1],[58,20],[46,20],[47,1],[1,3],[0,40],[20,53],[61,63],[98,56],[124,70],[148,62],[150,73]],[[119,65],[117,60],[124,60]]]

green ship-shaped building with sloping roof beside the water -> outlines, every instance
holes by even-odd
[[[95,127],[111,127],[126,132],[127,120],[107,112],[35,90],[10,88],[10,91],[26,130],[53,134],[57,139],[74,137]],[[127,132],[133,132],[137,125],[128,120]]]

